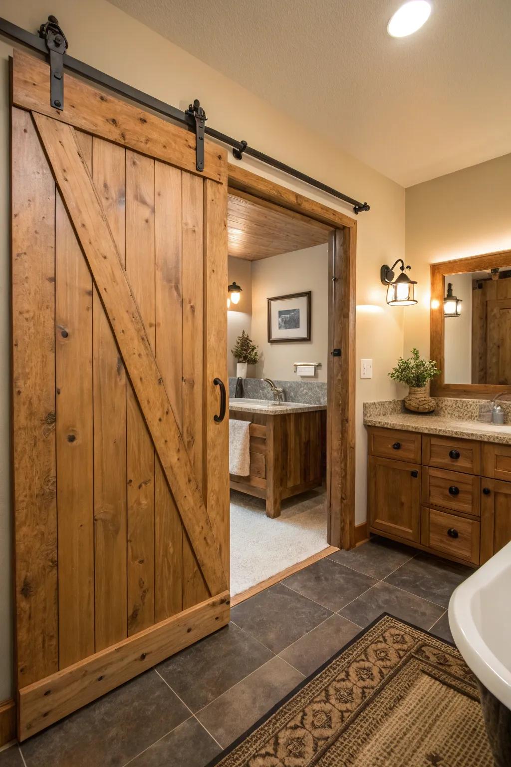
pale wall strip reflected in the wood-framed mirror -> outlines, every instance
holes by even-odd
[[[472,380],[472,275],[446,275],[453,293],[461,299],[459,317],[449,317],[444,325],[446,384],[470,384]]]

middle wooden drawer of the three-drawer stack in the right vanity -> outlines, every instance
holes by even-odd
[[[480,477],[424,466],[422,478],[423,504],[477,517],[480,515]]]

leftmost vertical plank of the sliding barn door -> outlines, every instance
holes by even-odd
[[[55,185],[28,112],[12,109],[12,459],[18,687],[58,669]]]

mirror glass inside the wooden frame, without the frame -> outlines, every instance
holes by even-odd
[[[511,268],[444,275],[444,381],[511,385]]]

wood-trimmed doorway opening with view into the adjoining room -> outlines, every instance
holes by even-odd
[[[237,604],[353,545],[355,221],[239,166],[228,180]]]

